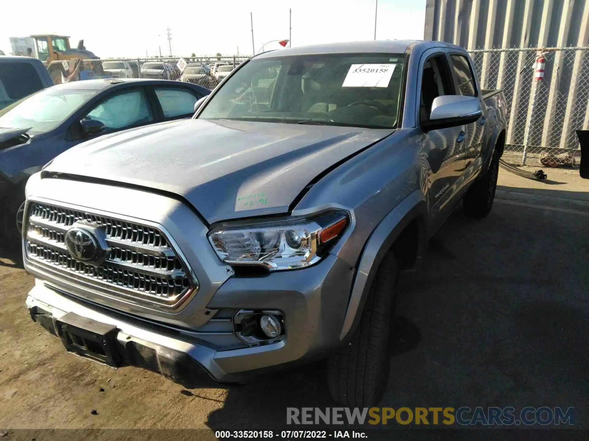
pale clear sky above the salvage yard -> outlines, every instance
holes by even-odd
[[[155,5],[155,6],[151,6]],[[374,38],[375,0],[148,0],[0,1],[0,49],[11,52],[8,38],[31,34],[70,35],[99,57],[172,54],[252,55],[250,12],[258,52],[270,40],[292,45],[362,41]],[[422,39],[425,0],[378,0],[377,39]],[[277,43],[266,45],[276,49]]]

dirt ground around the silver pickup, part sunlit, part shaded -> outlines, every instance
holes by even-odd
[[[382,406],[573,406],[575,426],[589,427],[589,181],[547,172],[537,183],[501,171],[491,215],[456,209],[425,269],[401,276]],[[29,318],[33,283],[18,253],[2,250],[0,427],[212,433],[283,423],[287,406],[334,405],[322,363],[186,390],[77,358]]]

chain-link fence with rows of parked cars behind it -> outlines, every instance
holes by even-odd
[[[245,61],[247,56],[188,56],[186,66],[178,68],[180,57],[108,58],[84,60],[91,66],[92,78],[153,78],[171,79],[214,89],[217,84]]]

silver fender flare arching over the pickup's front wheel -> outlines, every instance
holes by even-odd
[[[352,285],[346,316],[343,320],[340,341],[353,335],[360,322],[366,297],[380,262],[382,262],[385,253],[391,249],[401,232],[413,220],[417,221],[419,229],[418,259],[425,253],[428,239],[427,219],[428,205],[421,190],[416,190],[393,208],[370,234],[358,262],[358,270]]]

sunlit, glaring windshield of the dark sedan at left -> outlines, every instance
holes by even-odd
[[[48,132],[88,102],[98,91],[43,89],[0,111],[0,127],[31,127],[28,133]]]

